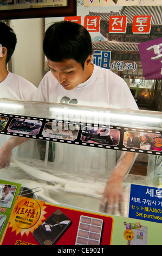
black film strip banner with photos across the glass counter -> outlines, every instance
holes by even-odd
[[[0,113],[0,133],[87,147],[162,155],[162,131],[157,130]]]

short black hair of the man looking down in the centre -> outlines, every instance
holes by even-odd
[[[45,33],[43,51],[53,62],[74,59],[84,66],[87,57],[92,54],[92,41],[87,29],[79,23],[55,22]]]

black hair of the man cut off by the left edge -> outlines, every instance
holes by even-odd
[[[2,47],[6,47],[8,50],[6,64],[9,62],[12,54],[15,51],[16,43],[17,38],[13,29],[10,28],[6,23],[0,22],[0,44]]]

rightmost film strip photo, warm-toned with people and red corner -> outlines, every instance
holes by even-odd
[[[161,151],[162,136],[160,134],[155,133],[128,130],[124,133],[123,144],[125,148]]]

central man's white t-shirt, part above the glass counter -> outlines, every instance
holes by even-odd
[[[34,101],[138,109],[127,83],[112,71],[96,65],[92,76],[73,90],[64,89],[53,74],[47,72]]]

